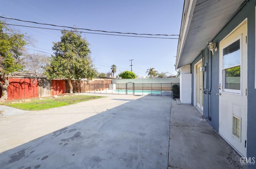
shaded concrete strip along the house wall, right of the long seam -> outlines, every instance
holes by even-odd
[[[172,102],[168,169],[247,169],[191,104]],[[254,166],[256,167],[256,166]]]

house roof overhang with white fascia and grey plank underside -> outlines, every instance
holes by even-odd
[[[184,0],[176,69],[191,64],[248,0]]]

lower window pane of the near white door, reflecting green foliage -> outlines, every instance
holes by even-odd
[[[224,70],[225,88],[240,90],[240,66],[232,67]]]

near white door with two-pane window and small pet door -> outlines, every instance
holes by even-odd
[[[220,41],[219,133],[246,157],[247,20]]]

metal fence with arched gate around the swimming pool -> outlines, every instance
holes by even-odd
[[[116,83],[86,84],[87,93],[172,96],[172,86],[180,83]]]

